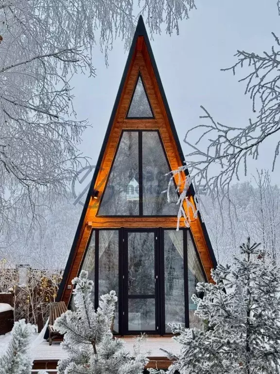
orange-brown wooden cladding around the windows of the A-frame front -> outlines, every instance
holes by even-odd
[[[154,112],[154,119],[125,119],[126,113],[131,101],[131,96],[134,87],[137,83],[139,73],[142,76],[146,92]],[[156,75],[154,74],[153,66],[150,60],[147,47],[143,37],[138,37],[136,49],[132,56],[128,74],[125,79],[123,92],[121,94],[119,106],[113,122],[112,129],[108,136],[105,152],[94,189],[98,191],[98,198],[91,198],[80,232],[79,241],[77,243],[74,255],[74,261],[71,264],[68,274],[68,280],[65,285],[62,299],[68,303],[72,292],[71,279],[77,276],[79,272],[80,263],[82,261],[91,228],[103,227],[176,227],[176,217],[98,217],[97,211],[100,204],[100,199],[104,192],[105,184],[109,176],[109,171],[114,160],[117,146],[120,140],[122,130],[157,130],[160,133],[167,158],[172,170],[182,166],[180,155],[176,147],[175,138],[171,126],[168,121],[168,115],[164,107],[164,103],[157,85]],[[181,180],[184,180],[184,174],[181,175]],[[175,178],[178,185],[178,177]],[[179,186],[182,189],[182,186]],[[208,246],[204,237],[203,229],[199,219],[191,220],[192,235],[199,252],[201,262],[203,264],[208,280],[211,281],[210,269],[213,267]],[[184,220],[180,220],[180,226],[185,226]],[[70,289],[68,289],[68,285]]]

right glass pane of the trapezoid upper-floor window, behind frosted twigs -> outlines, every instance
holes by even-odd
[[[170,181],[170,168],[165,157],[157,131],[143,131],[143,215],[174,215],[178,214],[178,195],[175,184],[170,188],[170,203],[167,190]]]

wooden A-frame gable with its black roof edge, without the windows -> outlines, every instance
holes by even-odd
[[[151,118],[127,118],[139,75],[153,112],[153,117]],[[109,172],[116,155],[122,131],[125,130],[158,131],[171,169],[174,170],[183,165],[183,153],[141,17],[133,38],[117,99],[105,134],[105,140],[89,188],[86,204],[70,251],[63,281],[58,292],[57,299],[63,300],[66,303],[69,303],[72,292],[71,280],[78,275],[92,228],[154,228],[176,227],[177,225],[177,217],[172,216],[98,216],[98,209]],[[181,177],[184,178],[184,175]],[[177,177],[175,182],[178,184]],[[194,190],[191,186],[190,199],[194,203],[193,195]],[[183,219],[180,219],[180,226],[185,226]],[[215,267],[216,262],[206,227],[200,217],[198,219],[192,217],[190,226],[205,274],[208,280],[211,281],[210,269]]]

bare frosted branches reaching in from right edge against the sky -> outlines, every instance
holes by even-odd
[[[231,127],[218,122],[201,106],[203,114],[200,118],[205,123],[187,131],[184,139],[191,151],[186,154],[187,165],[183,168],[188,168],[195,186],[203,186],[204,193],[219,200],[221,213],[225,205],[230,214],[236,213],[230,201],[229,186],[233,181],[239,181],[241,175],[247,175],[247,161],[257,160],[261,145],[265,145],[272,136],[280,139],[280,41],[272,34],[275,45],[270,52],[258,55],[237,51],[237,62],[230,68],[222,69],[230,70],[234,75],[238,69],[246,68],[248,71],[239,81],[246,84],[245,94],[249,94],[252,100],[254,118],[245,127]],[[196,138],[195,142],[193,138]],[[272,170],[279,152],[280,140],[271,160]],[[189,185],[187,180],[185,190]],[[180,206],[183,198],[180,198]]]

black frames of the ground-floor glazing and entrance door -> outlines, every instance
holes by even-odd
[[[176,230],[175,227],[140,227],[140,228],[93,228],[87,244],[87,249],[83,256],[80,269],[83,267],[84,260],[87,255],[88,246],[95,232],[95,272],[94,272],[94,307],[98,308],[99,298],[99,231],[118,231],[119,233],[119,326],[118,333],[114,335],[135,335],[140,334],[141,331],[128,331],[128,299],[155,299],[155,331],[146,331],[150,335],[172,335],[172,333],[165,332],[165,279],[164,279],[164,231]],[[179,230],[183,231],[183,266],[184,266],[184,300],[185,300],[185,327],[189,327],[189,287],[188,287],[188,232],[191,235],[191,240],[195,249],[197,259],[199,261],[205,281],[207,281],[202,262],[197,251],[196,244],[193,240],[192,232],[187,227],[181,227]],[[128,298],[128,233],[129,232],[153,232],[155,238],[155,276],[156,280],[155,296],[154,295],[139,295]],[[157,239],[156,239],[157,238]],[[157,329],[158,327],[158,329]]]

